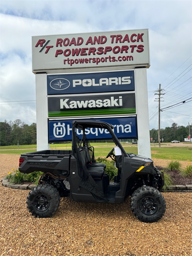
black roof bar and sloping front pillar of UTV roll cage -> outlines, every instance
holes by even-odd
[[[114,134],[114,132],[113,132],[113,130],[111,128],[111,127],[113,127],[113,125],[110,125],[110,124],[108,124],[106,122],[100,122],[100,123],[101,123],[100,127],[101,128],[106,128],[110,132],[110,134],[111,134],[111,136],[113,138],[113,141],[115,142],[116,146],[118,146],[121,149],[121,151],[122,151],[122,153],[124,154],[125,157],[128,157],[128,154],[125,152],[124,148],[122,147],[121,143],[119,142],[118,138],[116,137],[116,135]],[[72,130],[73,131],[75,131],[75,128],[77,128],[78,124],[79,125],[83,125],[83,126],[85,126],[87,124],[88,128],[96,128],[96,127],[98,127],[98,122],[95,122],[95,121],[89,121],[89,122],[87,122],[87,121],[73,121],[73,123],[72,123]],[[94,126],[94,124],[95,124],[96,127]],[[85,131],[85,128],[87,128],[87,127],[83,128],[83,126],[82,126],[82,130]]]

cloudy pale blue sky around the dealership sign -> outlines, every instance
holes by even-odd
[[[154,91],[165,89],[161,108],[191,98],[191,1],[1,0],[1,121],[36,122],[31,37],[149,28],[147,70],[150,129],[158,128]],[[191,99],[161,113],[161,127],[191,123]]]

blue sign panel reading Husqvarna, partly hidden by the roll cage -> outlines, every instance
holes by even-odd
[[[137,119],[136,117],[120,117],[106,119],[89,119],[90,121],[102,121],[114,126],[114,133],[119,139],[137,138]],[[70,141],[72,140],[72,122],[73,120],[49,121],[49,142]],[[82,137],[82,131],[76,129],[79,138]],[[111,135],[104,128],[86,128],[85,134],[88,140],[110,139]]]

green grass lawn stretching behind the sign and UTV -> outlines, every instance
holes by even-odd
[[[128,153],[135,153],[138,154],[137,151],[137,145],[132,146],[132,144],[122,143],[123,146],[125,146],[125,151]],[[111,145],[111,146],[110,146]],[[63,149],[70,150],[71,149],[71,143],[68,144],[50,144],[50,149]],[[91,143],[91,146],[101,146],[101,147],[95,147],[95,157],[106,157],[107,154],[111,151],[111,149],[114,147],[114,143],[108,143],[107,147],[106,143]],[[29,153],[29,152],[35,152],[36,151],[36,145],[21,145],[19,146],[19,150],[11,150],[11,149],[17,149],[17,146],[1,146],[0,149],[9,149],[9,150],[2,150],[1,154],[23,154],[23,153]],[[31,150],[30,150],[31,149]],[[192,161],[192,150],[191,147],[151,147],[151,154],[152,158],[158,158],[158,159],[170,159],[170,160],[180,160],[180,161]]]

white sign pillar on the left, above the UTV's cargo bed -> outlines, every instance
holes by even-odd
[[[48,143],[48,104],[47,77],[45,74],[35,75],[36,84],[36,113],[37,113],[37,151],[50,149]]]

